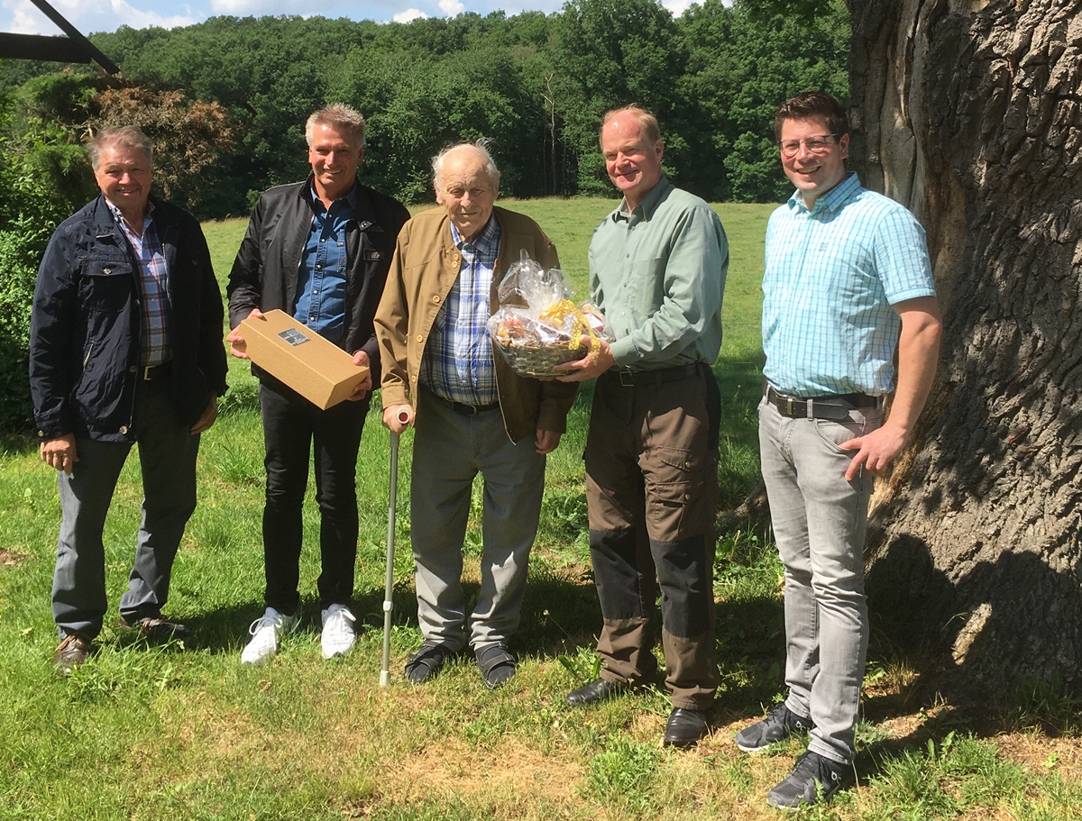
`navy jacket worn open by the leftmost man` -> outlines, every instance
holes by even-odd
[[[169,270],[177,423],[199,419],[225,385],[222,292],[196,219],[151,198]],[[132,441],[138,371],[140,269],[104,197],[49,240],[30,318],[30,394],[40,440],[67,434]]]

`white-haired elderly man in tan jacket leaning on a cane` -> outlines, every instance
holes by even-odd
[[[532,220],[494,206],[500,172],[483,143],[444,150],[433,171],[441,208],[403,228],[375,315],[383,423],[415,432],[410,511],[424,641],[406,677],[427,680],[469,643],[485,684],[497,687],[515,674],[507,640],[518,627],[544,456],[559,443],[576,388],[517,375],[486,330],[510,264],[525,251],[556,267],[556,249]],[[478,472],[485,544],[467,625],[462,543]]]

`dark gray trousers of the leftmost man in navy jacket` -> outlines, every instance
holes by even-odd
[[[129,623],[161,614],[173,559],[196,507],[199,436],[177,425],[168,381],[140,382],[133,420],[143,473],[142,522],[120,614]],[[61,638],[94,638],[107,609],[102,530],[131,450],[128,442],[77,439],[71,475],[58,472],[61,521],[53,574],[53,620]]]

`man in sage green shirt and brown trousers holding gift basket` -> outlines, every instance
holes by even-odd
[[[714,512],[721,401],[711,363],[722,344],[728,243],[698,197],[662,176],[658,121],[610,111],[602,153],[620,208],[590,243],[590,291],[616,340],[565,366],[597,376],[586,440],[590,553],[604,626],[601,677],[569,693],[590,704],[652,678],[661,590],[664,742],[709,731],[714,663]]]

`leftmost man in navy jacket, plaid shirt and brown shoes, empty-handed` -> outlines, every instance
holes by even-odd
[[[53,577],[54,662],[81,664],[106,611],[102,529],[132,442],[143,519],[121,621],[163,638],[169,579],[196,506],[199,434],[225,393],[222,294],[199,223],[149,196],[150,141],[105,129],[88,146],[102,196],[65,220],[41,262],[30,390],[63,512]]]

